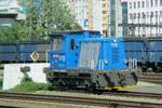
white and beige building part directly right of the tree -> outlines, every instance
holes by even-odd
[[[72,14],[82,29],[102,31],[102,0],[68,0]]]

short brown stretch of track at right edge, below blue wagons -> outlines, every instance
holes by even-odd
[[[162,84],[162,73],[153,73],[153,72],[143,73],[139,77],[139,81],[146,81],[146,82]]]

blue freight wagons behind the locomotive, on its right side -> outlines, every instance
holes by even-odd
[[[136,59],[137,67],[143,71],[162,70],[162,37],[124,38],[126,63]]]

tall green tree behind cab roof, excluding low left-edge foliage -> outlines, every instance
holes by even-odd
[[[21,0],[26,2],[25,29],[31,40],[41,40],[51,32],[80,30],[70,9],[62,0]]]

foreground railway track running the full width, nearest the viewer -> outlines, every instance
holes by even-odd
[[[97,96],[98,97],[98,96]],[[17,99],[17,100],[33,100],[46,103],[64,103],[78,104],[110,108],[162,108],[162,103],[141,102],[141,100],[124,100],[112,98],[95,98],[82,96],[60,96],[60,95],[41,95],[41,94],[25,94],[25,93],[6,93],[0,92],[0,98]]]

